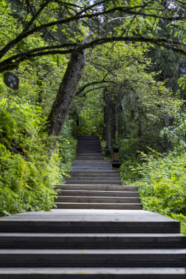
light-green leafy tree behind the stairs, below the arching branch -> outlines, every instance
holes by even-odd
[[[145,149],[149,142],[152,148],[166,151],[160,130],[164,119],[176,116],[182,105],[180,96],[167,89],[165,82],[155,81],[159,73],[150,73],[152,62],[147,54],[148,48],[141,43],[96,47],[87,54],[89,63],[75,99],[77,110],[82,115],[81,133],[100,135],[102,122],[98,114],[103,116],[105,105],[102,91],[107,88],[111,92],[116,112],[117,143],[125,153],[132,151],[130,156],[135,156],[137,149]],[[82,100],[83,97],[86,98]],[[125,131],[120,135],[124,124]],[[125,144],[128,148],[124,147]]]

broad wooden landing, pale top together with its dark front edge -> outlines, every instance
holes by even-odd
[[[177,234],[180,223],[142,210],[52,209],[3,217],[0,232]]]

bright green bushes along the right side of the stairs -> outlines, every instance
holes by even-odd
[[[139,186],[144,209],[181,220],[186,234],[186,153],[141,152],[140,158],[131,171],[139,176],[133,186]]]

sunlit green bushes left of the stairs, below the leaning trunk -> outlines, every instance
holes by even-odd
[[[71,167],[69,154],[75,153],[72,121],[67,121],[48,159],[49,138],[38,133],[44,121],[41,108],[22,103],[18,97],[1,98],[0,105],[0,215],[49,210],[56,197],[54,183],[64,183],[63,176]]]

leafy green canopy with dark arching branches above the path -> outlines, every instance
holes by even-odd
[[[185,8],[181,1],[166,7],[157,0],[20,0],[17,5],[13,0],[8,2],[0,2],[2,27],[8,27],[3,28],[0,38],[1,73],[35,57],[70,54],[75,47],[85,50],[114,41],[156,44],[185,54]],[[175,33],[172,40],[157,36],[161,20],[166,20],[166,25]],[[11,31],[13,26],[15,29]],[[32,41],[41,34],[45,45],[31,44],[31,48],[25,50],[26,40]],[[87,42],[84,36],[88,35]]]

